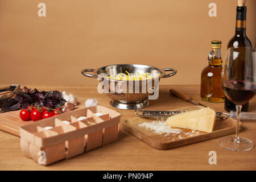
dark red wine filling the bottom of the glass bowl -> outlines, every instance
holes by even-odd
[[[228,80],[223,83],[226,97],[236,105],[243,105],[254,97],[256,85],[250,81]]]

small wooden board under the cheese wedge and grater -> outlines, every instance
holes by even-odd
[[[196,110],[200,109],[201,106],[185,107],[175,110]],[[147,117],[134,117],[125,119],[122,122],[122,128],[139,138],[143,142],[147,143],[149,146],[154,147],[159,150],[166,150],[170,148],[185,146],[187,144],[201,142],[204,140],[222,137],[224,135],[229,135],[236,133],[236,120],[232,118],[227,118],[225,120],[217,119],[216,125],[213,132],[205,133],[203,131],[196,131],[190,129],[180,129],[180,134],[157,134],[154,130],[146,129],[145,127],[139,126],[139,124],[144,122],[159,121],[157,118],[147,118]],[[242,129],[240,122],[240,130]]]

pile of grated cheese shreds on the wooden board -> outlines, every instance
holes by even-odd
[[[172,129],[172,127],[168,126],[165,121],[152,121],[152,122],[144,122],[139,124],[141,127],[145,127],[147,130],[154,130],[154,133],[164,134],[168,136],[170,134],[180,134],[180,129]]]

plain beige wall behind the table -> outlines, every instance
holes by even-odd
[[[38,3],[47,16],[38,16]],[[217,17],[208,5],[217,4]],[[247,0],[255,47],[256,1]],[[97,84],[80,71],[139,63],[176,68],[162,84],[200,84],[210,40],[234,35],[236,0],[0,0],[0,84]]]

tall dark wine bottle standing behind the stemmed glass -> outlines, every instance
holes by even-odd
[[[239,1],[238,1],[239,3]],[[246,11],[247,8],[245,4],[237,6],[237,16],[236,16],[236,32],[232,39],[229,40],[228,48],[234,47],[252,47],[250,39],[246,36]],[[241,70],[242,72],[242,70]],[[241,73],[242,74],[242,73]],[[236,111],[236,105],[234,105],[228,98],[225,97],[225,110],[226,111]],[[246,102],[242,106],[242,111],[248,111],[249,102]]]

